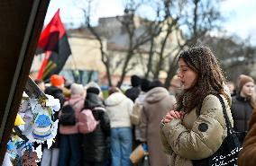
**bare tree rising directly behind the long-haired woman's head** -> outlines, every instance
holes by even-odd
[[[174,61],[169,62],[168,76],[165,81],[166,87],[169,87],[170,80],[176,73],[179,52],[185,47],[200,43],[202,37],[220,27],[220,22],[223,21],[219,7],[221,2],[221,0],[187,0],[178,21],[178,28],[183,31],[183,38],[182,42],[179,43],[177,54],[174,55]]]

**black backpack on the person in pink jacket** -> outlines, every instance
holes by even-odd
[[[79,101],[79,100],[78,100]],[[61,114],[59,117],[59,124],[62,126],[74,126],[77,123],[76,113],[73,109],[73,106],[75,106],[77,103],[75,102],[73,105],[67,104],[63,106],[61,109]]]

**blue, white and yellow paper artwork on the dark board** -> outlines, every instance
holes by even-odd
[[[59,120],[54,114],[60,109],[58,99],[46,95],[30,79],[23,92],[14,132],[7,144],[6,160],[14,166],[33,166],[41,160],[41,145],[51,146],[57,135]]]

